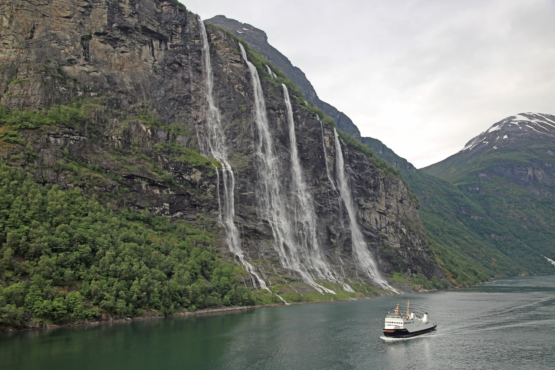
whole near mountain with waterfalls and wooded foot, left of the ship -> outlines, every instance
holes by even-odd
[[[0,4],[0,322],[448,286],[398,172],[173,0]]]

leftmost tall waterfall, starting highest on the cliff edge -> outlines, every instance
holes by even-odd
[[[222,202],[220,201],[219,191],[220,175],[218,168],[214,166],[216,174],[218,174],[218,204],[220,208],[220,222],[225,227],[229,250],[239,258],[241,264],[249,272],[253,286],[256,286],[256,282],[258,281],[261,288],[268,289],[264,280],[262,280],[256,272],[256,268],[251,263],[246,261],[245,254],[241,248],[239,230],[237,229],[237,226],[235,226],[235,176],[228,161],[228,146],[225,140],[226,136],[221,124],[220,110],[216,107],[214,98],[214,75],[212,73],[212,65],[210,63],[210,49],[208,45],[208,37],[206,36],[206,28],[204,27],[204,22],[201,21],[201,19],[198,20],[198,23],[200,29],[200,42],[202,45],[204,93],[206,95],[206,103],[208,105],[205,112],[206,126],[208,130],[207,141],[211,155],[221,164],[221,177],[224,184]]]

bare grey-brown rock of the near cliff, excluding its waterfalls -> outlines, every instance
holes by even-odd
[[[193,14],[164,0],[4,2],[0,102],[10,109],[76,102],[86,117],[79,124],[19,130],[23,145],[2,139],[2,158],[24,166],[37,181],[78,187],[114,207],[149,207],[173,219],[218,225],[224,184],[221,167],[210,159],[206,145],[197,22]],[[235,222],[242,247],[267,282],[311,290],[298,273],[280,265],[271,226],[260,214],[254,144],[259,133],[248,68],[229,34],[208,28],[208,40],[235,173]],[[269,75],[259,74],[281,186],[291,197],[284,96]],[[372,283],[357,275],[351,257],[348,217],[334,186],[332,128],[322,127],[301,105],[293,102],[292,108],[302,171],[315,199],[321,252],[346,281]],[[417,204],[401,179],[377,170],[365,155],[344,150],[359,223],[380,270],[441,277]],[[220,231],[223,241],[224,228]],[[222,254],[233,259],[225,243],[221,245]]]

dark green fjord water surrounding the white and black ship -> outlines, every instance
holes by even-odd
[[[386,341],[410,298],[438,329]],[[463,290],[0,333],[0,369],[555,369],[555,275]]]

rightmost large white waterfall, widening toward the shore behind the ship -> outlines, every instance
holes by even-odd
[[[387,281],[384,280],[384,278],[380,276],[380,273],[376,266],[376,261],[374,261],[374,257],[372,257],[370,251],[368,250],[368,246],[366,245],[366,241],[364,240],[364,236],[362,235],[362,231],[360,230],[359,224],[356,220],[357,213],[351,194],[351,186],[349,184],[349,179],[347,178],[347,174],[345,171],[345,163],[343,160],[343,153],[341,151],[341,143],[339,141],[339,136],[337,136],[337,130],[335,129],[334,136],[335,170],[337,174],[337,184],[339,186],[341,199],[343,199],[345,207],[347,208],[347,213],[349,214],[352,253],[355,260],[355,266],[361,267],[362,270],[364,270],[372,280],[379,283],[384,289],[398,292],[397,290],[392,288],[387,283]]]

